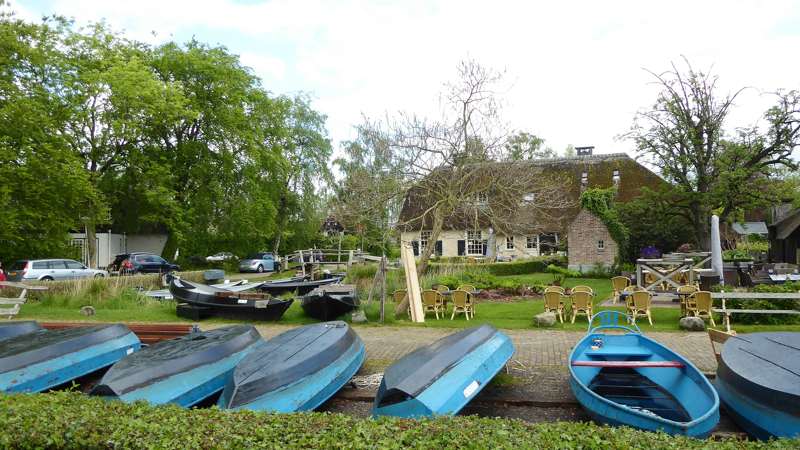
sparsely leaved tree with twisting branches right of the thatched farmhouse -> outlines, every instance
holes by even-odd
[[[741,90],[720,95],[717,77],[695,71],[653,74],[661,87],[655,105],[637,113],[626,134],[644,161],[675,187],[672,201],[692,226],[694,238],[709,248],[709,218],[722,220],[780,199],[781,168],[797,170],[792,153],[800,139],[800,94],[777,92],[775,106],[759,126],[726,131],[726,119]]]

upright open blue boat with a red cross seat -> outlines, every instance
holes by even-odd
[[[597,422],[705,437],[719,422],[719,397],[686,358],[620,325],[619,311],[592,317],[569,357],[570,387]],[[593,327],[595,321],[600,325]],[[609,334],[606,330],[622,330]]]

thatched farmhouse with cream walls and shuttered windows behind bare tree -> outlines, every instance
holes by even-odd
[[[482,163],[487,172],[503,163]],[[414,253],[419,255],[428,245],[434,245],[438,256],[484,256],[497,255],[506,258],[522,258],[551,254],[565,249],[564,241],[570,225],[576,218],[587,227],[578,227],[569,235],[570,252],[576,249],[581,255],[581,266],[609,263],[616,255],[616,244],[599,220],[589,212],[581,213],[579,198],[588,188],[616,186],[617,201],[625,202],[640,195],[642,187],[655,188],[664,181],[627,154],[585,154],[569,158],[542,159],[525,162],[526,170],[542,177],[559,180],[560,191],[568,201],[558,211],[543,211],[537,208],[541,199],[524,198],[519,202],[521,211],[512,216],[517,223],[498,223],[491,217],[470,213],[467,207],[446,217],[443,231],[436,242],[431,242],[432,219],[426,214],[429,202],[412,188],[406,194],[400,213],[401,240],[411,242]],[[532,177],[535,180],[536,177]],[[523,190],[524,192],[524,190]],[[523,196],[525,196],[523,194]],[[526,196],[527,197],[527,196]],[[476,194],[475,204],[492,205],[491,190]],[[529,213],[526,215],[526,213]],[[588,215],[588,216],[587,216]],[[532,216],[532,217],[531,217]],[[588,225],[591,225],[589,227]],[[577,255],[576,255],[577,256]],[[610,258],[610,259],[609,259]],[[572,264],[572,261],[570,261]]]

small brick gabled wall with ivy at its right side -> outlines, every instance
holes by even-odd
[[[603,248],[599,248],[599,241],[603,241]],[[617,250],[617,243],[605,224],[585,209],[567,229],[567,254],[572,270],[590,270],[599,263],[610,266],[614,264]]]

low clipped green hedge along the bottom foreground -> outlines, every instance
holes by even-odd
[[[778,449],[768,443],[696,440],[586,423],[529,424],[475,416],[357,419],[125,404],[74,392],[0,395],[2,448],[507,448]]]

